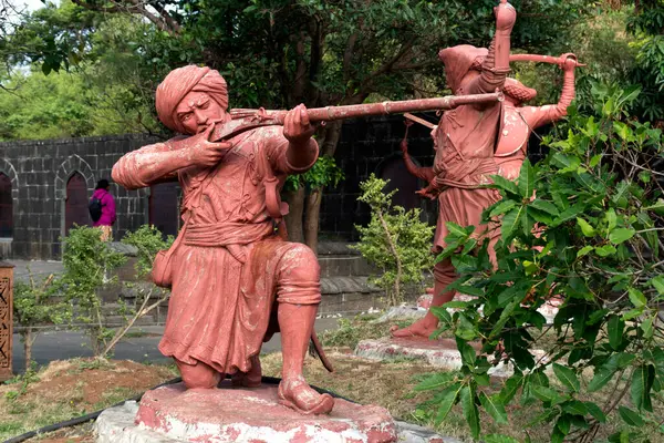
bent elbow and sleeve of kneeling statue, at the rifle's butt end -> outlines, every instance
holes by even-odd
[[[173,141],[155,143],[123,155],[113,166],[113,181],[128,189],[164,182],[191,164],[186,150]]]

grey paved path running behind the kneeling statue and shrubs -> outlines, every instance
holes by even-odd
[[[336,319],[325,318],[315,322],[315,330],[322,332],[336,328]],[[115,359],[133,360],[139,363],[169,363],[173,360],[162,356],[157,349],[163,326],[147,326],[134,328],[132,332],[142,332],[141,337],[131,337],[115,348]],[[270,341],[263,343],[262,352],[269,353],[281,350],[281,336],[276,334]],[[38,336],[32,347],[32,358],[39,365],[48,364],[54,360],[65,360],[75,357],[92,357],[89,339],[80,331],[45,331]],[[13,337],[13,371],[22,373],[25,370],[23,343],[19,334]]]

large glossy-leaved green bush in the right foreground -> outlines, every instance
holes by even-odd
[[[442,256],[452,256],[460,278],[448,288],[477,299],[457,302],[454,315],[433,309],[438,333],[455,333],[463,368],[425,388],[437,391],[439,416],[460,402],[475,439],[477,405],[500,423],[517,399],[539,404],[542,413],[530,425],[549,423],[551,441],[562,442],[591,441],[615,412],[627,426],[641,426],[661,399],[662,133],[625,117],[637,92],[609,90],[598,90],[595,115],[572,112],[562,135],[544,140],[548,157],[535,166],[525,161],[516,184],[494,177],[490,187],[502,199],[484,219],[501,220],[497,267],[487,241],[476,246],[473,227],[450,224]],[[553,296],[564,301],[546,324],[537,309]],[[541,340],[546,334],[554,336],[552,343]],[[481,342],[481,353],[471,340]],[[547,359],[530,352],[542,348]],[[499,359],[515,374],[487,398],[487,372]],[[581,381],[584,372],[593,373],[589,383]],[[605,402],[588,400],[602,389]],[[630,441],[643,439],[639,429],[624,432]],[[621,433],[611,441],[623,441]]]

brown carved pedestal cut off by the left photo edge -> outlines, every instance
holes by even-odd
[[[13,265],[0,261],[0,381],[13,377],[11,371],[13,285]]]

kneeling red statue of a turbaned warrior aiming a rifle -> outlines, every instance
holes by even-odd
[[[226,81],[195,65],[166,76],[156,107],[184,135],[126,154],[113,178],[135,189],[177,177],[183,188],[184,226],[153,268],[155,282],[172,287],[159,350],[175,359],[189,389],[214,389],[226,374],[234,384],[257,387],[261,344],[279,330],[279,401],[302,413],[330,412],[332,396],[302,375],[321,301],[319,265],[307,246],[284,240],[284,210],[273,209],[286,177],[318,158],[307,110],[289,111],[283,126],[210,142],[214,126],[230,121]]]

